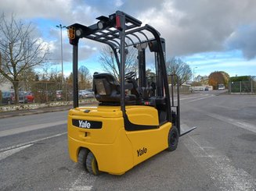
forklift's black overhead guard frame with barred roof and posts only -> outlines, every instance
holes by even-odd
[[[141,27],[142,22],[138,19],[135,19],[128,14],[117,11],[109,17],[99,16],[99,22],[93,24],[89,27],[83,26],[78,23],[70,25],[68,30],[74,29],[75,33],[79,30],[80,35],[75,34],[74,37],[70,38],[70,44],[73,45],[73,96],[74,96],[74,108],[78,107],[78,42],[80,38],[87,38],[92,41],[98,41],[103,44],[108,44],[112,48],[115,58],[117,60],[117,65],[120,70],[121,76],[121,111],[125,117],[125,103],[124,103],[124,65],[125,65],[125,54],[124,48],[129,46],[136,46],[137,44],[148,43],[150,41],[157,41],[159,48],[159,58],[160,58],[160,69],[162,71],[162,77],[164,80],[164,90],[165,96],[170,97],[169,88],[168,88],[168,77],[165,69],[165,58],[164,50],[161,45],[160,33],[155,30],[150,25],[145,25]],[[117,23],[118,22],[118,23]],[[101,24],[102,28],[99,28]],[[153,37],[148,37],[146,32],[149,32]],[[137,35],[138,34],[138,35]],[[141,39],[139,37],[144,37]],[[132,38],[131,36],[135,37]],[[128,42],[125,39],[128,39]],[[135,41],[138,39],[138,41]],[[119,50],[121,58],[118,58],[117,50]],[[171,101],[167,101],[167,121],[171,122]]]

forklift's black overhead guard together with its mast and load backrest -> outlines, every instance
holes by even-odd
[[[125,112],[125,48],[134,47],[138,50],[139,61],[139,87],[146,87],[146,48],[154,53],[157,90],[153,97],[154,103],[162,103],[164,115],[167,122],[175,122],[175,126],[180,133],[179,119],[179,97],[178,105],[174,104],[173,87],[171,83],[171,95],[169,92],[168,74],[165,65],[165,41],[160,37],[160,33],[150,25],[141,26],[142,22],[128,14],[117,11],[110,16],[99,16],[99,21],[91,26],[84,26],[74,23],[68,27],[70,44],[73,45],[73,96],[74,108],[78,107],[78,42],[80,38],[87,38],[110,46],[114,52],[120,73],[120,106],[124,121],[127,118]],[[120,54],[120,56],[118,55]],[[172,76],[173,78],[177,76]],[[177,95],[178,96],[178,95]],[[171,97],[171,99],[170,99]],[[172,108],[175,107],[175,111]],[[175,115],[173,114],[175,112]]]

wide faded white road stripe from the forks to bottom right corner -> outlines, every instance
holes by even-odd
[[[254,190],[256,180],[242,168],[235,168],[229,157],[212,147],[210,143],[195,140],[191,136],[182,140],[189,152],[197,157],[219,190]],[[202,143],[201,143],[202,142]],[[216,182],[218,181],[218,182]],[[219,183],[219,185],[218,185]]]

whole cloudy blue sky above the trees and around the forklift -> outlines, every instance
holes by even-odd
[[[61,70],[60,29],[121,10],[157,29],[173,56],[189,64],[195,76],[224,71],[229,76],[256,76],[255,0],[0,0],[0,13],[32,23],[49,45],[52,68]],[[79,65],[101,71],[101,44],[83,41]],[[72,46],[63,30],[63,69],[72,71]]]

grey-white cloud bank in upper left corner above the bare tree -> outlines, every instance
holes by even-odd
[[[54,19],[65,24],[88,23],[95,19],[95,7],[81,0],[2,0],[1,11],[20,19]]]

